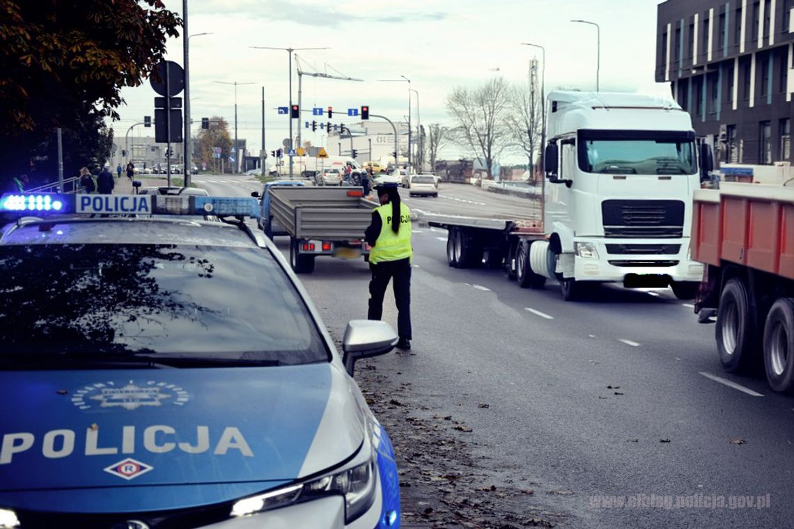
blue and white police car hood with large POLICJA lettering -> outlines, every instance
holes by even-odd
[[[0,506],[186,507],[322,472],[363,442],[353,385],[330,363],[2,372]]]

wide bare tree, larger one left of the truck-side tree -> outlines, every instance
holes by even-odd
[[[496,157],[508,143],[504,118],[509,92],[507,82],[499,77],[474,89],[458,86],[447,96],[447,110],[459,132],[457,141],[484,162],[489,179]]]

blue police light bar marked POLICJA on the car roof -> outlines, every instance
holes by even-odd
[[[83,215],[214,215],[259,217],[252,197],[127,194],[5,194],[0,212]]]

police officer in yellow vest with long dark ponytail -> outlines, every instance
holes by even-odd
[[[389,280],[394,279],[397,305],[397,347],[410,349],[410,262],[413,250],[410,247],[410,209],[399,199],[397,184],[382,183],[376,186],[380,206],[372,211],[364,238],[372,247],[369,253],[368,319],[380,320],[384,312],[384,294]]]

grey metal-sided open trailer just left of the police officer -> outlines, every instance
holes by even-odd
[[[274,186],[267,193],[273,219],[290,236],[296,274],[313,272],[314,258],[322,255],[368,259],[364,231],[378,203],[364,198],[360,188]]]

